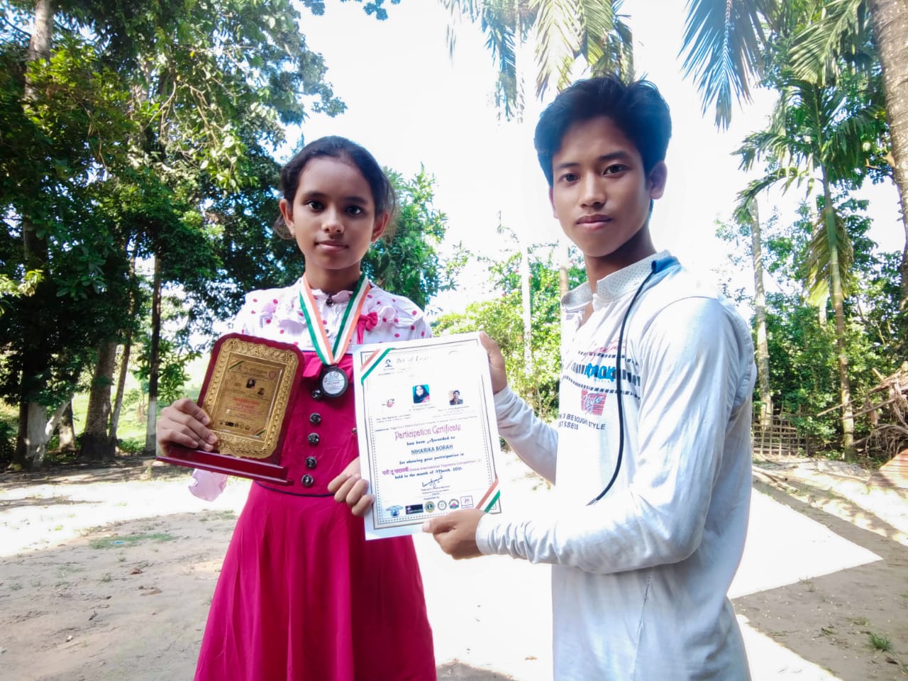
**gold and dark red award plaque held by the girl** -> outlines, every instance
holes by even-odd
[[[284,416],[302,380],[302,354],[289,343],[228,333],[214,343],[199,393],[219,451],[168,445],[158,459],[177,466],[289,485],[280,464]]]

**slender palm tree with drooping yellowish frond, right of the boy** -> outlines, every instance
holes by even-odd
[[[781,94],[769,127],[752,133],[737,151],[741,167],[750,170],[765,161],[768,172],[742,192],[744,202],[774,185],[806,183],[808,192],[821,187],[820,217],[810,244],[807,286],[810,300],[821,310],[832,298],[842,397],[843,447],[854,458],[854,417],[848,358],[845,354],[844,296],[852,261],[851,242],[835,211],[834,188],[851,189],[864,179],[865,143],[883,133],[879,105],[855,95],[847,82],[821,86],[795,76],[778,78]]]

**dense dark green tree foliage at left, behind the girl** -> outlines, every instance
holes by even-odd
[[[388,15],[385,0],[357,2]],[[285,127],[344,109],[298,7],[325,11],[61,0],[45,59],[28,51],[35,3],[0,0],[0,396],[68,399],[95,349],[144,318],[135,262],[157,259],[165,288],[192,303],[185,328],[201,331],[281,264],[279,249],[256,270],[251,251],[225,248],[258,242],[276,214],[271,153]],[[184,359],[183,341],[168,341]]]

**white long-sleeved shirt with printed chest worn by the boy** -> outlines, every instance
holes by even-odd
[[[505,389],[498,428],[558,512],[482,518],[479,549],[550,563],[556,679],[749,679],[725,596],[744,548],[755,367],[732,305],[662,252],[566,296],[558,427]],[[580,324],[583,309],[593,312]]]

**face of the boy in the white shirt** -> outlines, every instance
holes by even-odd
[[[656,252],[649,204],[662,196],[666,164],[647,174],[637,147],[606,117],[568,128],[552,158],[552,212],[600,276]],[[600,268],[602,269],[602,268]]]

